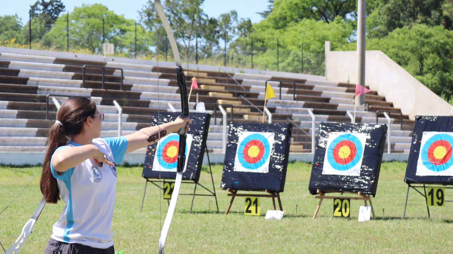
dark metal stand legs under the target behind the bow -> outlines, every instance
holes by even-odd
[[[210,189],[208,189],[207,187],[204,187],[201,183],[195,182],[193,180],[183,180],[183,181],[181,181],[181,183],[188,183],[188,184],[194,184],[195,185],[195,187],[193,188],[193,193],[179,193],[179,195],[192,195],[192,203],[190,205],[189,214],[192,213],[193,201],[195,199],[195,196],[213,196],[215,198],[215,200],[216,200],[217,212],[219,212],[219,205],[217,203],[216,188],[214,187],[214,178],[212,177],[211,161],[209,160],[209,152],[207,151],[207,147],[206,147],[206,155],[207,155],[207,163],[209,165],[209,173],[211,174],[212,191]],[[149,180],[149,178],[146,178],[145,191],[143,192],[143,198],[142,198],[142,204],[141,204],[141,207],[140,207],[140,212],[143,209],[143,202],[145,201],[145,193],[146,193],[146,187],[148,185],[148,182],[150,182],[150,183],[154,184],[155,186],[159,187],[159,189],[161,189],[162,191],[165,191],[165,189],[164,189],[164,187],[161,187],[161,185],[160,185],[161,182],[169,182],[170,185],[171,185],[171,183],[174,183],[174,181],[171,181],[171,180],[170,181],[163,181],[163,179]],[[157,184],[156,182],[159,182],[159,184]],[[198,193],[196,193],[198,185],[200,187],[202,187],[203,189],[207,190],[208,192],[210,192],[211,194],[198,194]],[[170,205],[170,200],[169,199],[167,199],[167,202]]]

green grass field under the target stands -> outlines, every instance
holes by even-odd
[[[229,202],[220,190],[222,165],[215,165],[213,176],[220,213],[213,197],[195,197],[189,215],[191,196],[179,196],[166,253],[449,253],[453,252],[453,204],[433,207],[428,219],[425,201],[410,192],[406,220],[402,220],[407,185],[406,163],[382,163],[381,176],[373,205],[376,219],[358,222],[363,201],[351,201],[351,218],[333,218],[333,201],[326,200],[312,220],[318,199],[308,192],[311,166],[289,163],[285,191],[281,193],[285,211],[282,220],[265,220],[272,210],[270,198],[261,198],[261,216],[244,215],[244,199],[236,198],[229,215],[223,213]],[[41,168],[0,168],[0,209],[19,193]],[[118,167],[113,240],[116,252],[123,254],[157,253],[161,224],[167,201],[160,200],[158,188],[148,185],[143,212],[140,203],[145,186],[140,167]],[[210,175],[202,172],[200,182],[209,186]],[[190,192],[193,185],[183,185]],[[201,192],[200,192],[201,193]],[[453,191],[446,190],[452,199]],[[162,195],[162,193],[160,193]],[[0,241],[9,248],[19,236],[41,199],[39,177],[0,215]],[[212,201],[212,202],[210,202]],[[161,206],[163,213],[159,211]],[[296,206],[298,211],[296,213]],[[58,220],[63,202],[46,205],[20,253],[43,253],[52,225]],[[161,218],[160,218],[161,217]]]

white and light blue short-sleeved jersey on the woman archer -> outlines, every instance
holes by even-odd
[[[125,137],[93,139],[93,144],[107,155],[111,162],[120,163],[127,149]],[[74,142],[59,147],[80,146]],[[92,158],[59,175],[58,189],[66,206],[60,219],[53,225],[52,238],[71,244],[83,244],[94,248],[113,245],[112,216],[116,195],[116,167],[106,163],[99,167]]]

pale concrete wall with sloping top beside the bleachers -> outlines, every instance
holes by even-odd
[[[330,51],[326,43],[327,80],[356,83],[357,52]],[[365,84],[386,101],[393,102],[404,115],[449,115],[452,106],[412,77],[380,50],[366,51]]]

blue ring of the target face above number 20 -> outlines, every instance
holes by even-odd
[[[352,141],[352,143],[354,143],[354,145],[356,146],[356,156],[354,158],[352,158],[352,161],[350,163],[339,164],[333,158],[333,149],[335,148],[335,146],[338,143],[342,142],[343,140],[349,140],[349,141]],[[335,168],[336,170],[340,170],[340,171],[346,171],[346,170],[351,169],[355,165],[357,165],[357,163],[360,161],[360,158],[362,158],[362,155],[363,155],[362,153],[363,153],[362,144],[356,136],[354,136],[352,134],[342,134],[342,135],[338,136],[337,138],[333,139],[332,143],[330,143],[326,156],[327,156],[328,162],[330,163],[330,165],[333,168]],[[358,159],[356,159],[356,158],[358,158]]]

